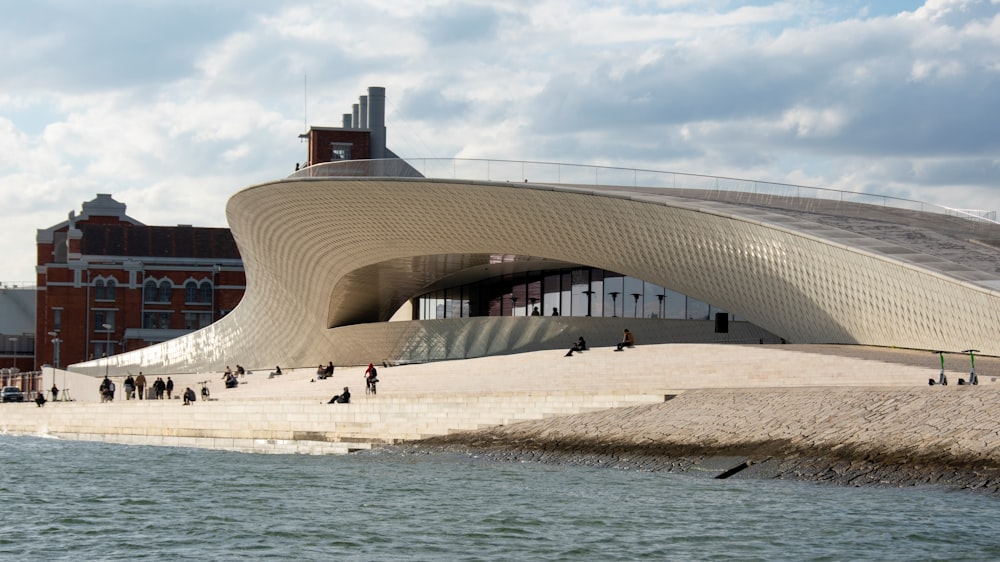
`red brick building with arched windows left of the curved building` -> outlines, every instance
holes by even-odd
[[[243,297],[226,228],[146,226],[98,194],[38,230],[37,365],[65,367],[208,326]]]

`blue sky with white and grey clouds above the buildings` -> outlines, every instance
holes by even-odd
[[[0,281],[97,193],[226,226],[386,88],[388,145],[1000,208],[1000,0],[0,0]]]

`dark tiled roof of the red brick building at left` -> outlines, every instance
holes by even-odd
[[[83,224],[81,251],[92,256],[239,259],[227,228]]]

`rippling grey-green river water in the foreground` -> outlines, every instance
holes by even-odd
[[[1000,499],[0,435],[0,559],[987,560]]]

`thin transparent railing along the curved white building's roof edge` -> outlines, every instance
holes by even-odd
[[[989,218],[989,212],[952,209],[889,195],[723,176],[585,164],[470,158],[342,160],[302,168],[288,177],[289,179],[392,177],[530,182],[535,184],[669,189],[678,195],[682,195],[684,190],[694,190],[699,192],[700,199],[785,206],[803,211],[829,207],[831,203],[836,204],[837,209],[843,210],[845,204],[854,204],[935,213],[968,219],[973,222],[1000,224]],[[795,201],[796,204],[788,205],[791,201]],[[813,205],[810,205],[809,202],[813,202]]]

